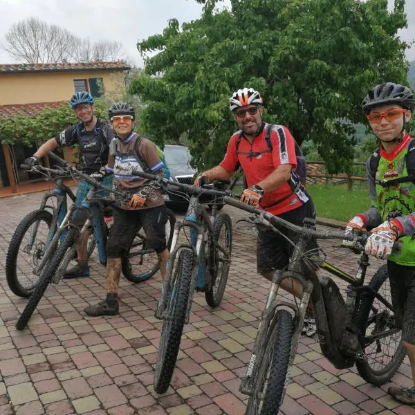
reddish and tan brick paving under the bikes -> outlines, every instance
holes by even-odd
[[[235,226],[223,302],[213,310],[202,295],[195,296],[172,387],[160,396],[153,389],[159,275],[140,285],[122,280],[119,316],[86,318],[84,306],[104,297],[106,289],[105,270],[94,256],[90,278],[49,288],[28,329],[15,330],[26,299],[8,290],[3,264],[17,223],[41,199],[37,193],[0,201],[0,414],[242,415],[246,396],[239,382],[268,292],[268,283],[252,271],[255,235]],[[232,210],[233,219],[238,215]],[[333,261],[353,271],[357,259]],[[415,414],[387,396],[391,383],[372,387],[356,369],[336,370],[322,357],[316,338],[302,338],[298,351],[284,414]],[[393,380],[410,386],[409,377],[405,360]]]

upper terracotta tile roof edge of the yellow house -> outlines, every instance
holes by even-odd
[[[0,64],[1,73],[26,73],[26,72],[67,72],[67,71],[98,71],[108,69],[130,69],[125,62],[84,62],[84,63],[60,63],[60,64]]]

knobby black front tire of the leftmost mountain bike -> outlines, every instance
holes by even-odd
[[[34,280],[30,286],[24,286],[23,282],[19,280],[19,276],[17,275],[19,269],[17,259],[19,257],[21,243],[24,241],[26,232],[30,230],[32,225],[35,225],[35,223],[39,221],[44,221],[48,226],[48,230],[50,230],[52,220],[53,216],[47,210],[34,210],[24,217],[12,236],[6,255],[6,280],[12,293],[18,295],[19,297],[30,297],[37,284],[39,284],[39,277],[33,274],[33,268],[35,268],[37,263],[42,259],[42,253],[46,249],[45,241],[45,243],[42,242],[41,245],[37,243],[35,252],[30,252],[29,260],[33,260],[33,264],[30,264],[33,268],[29,270],[29,273],[30,277],[33,277]],[[46,237],[47,236],[48,235],[46,234]]]

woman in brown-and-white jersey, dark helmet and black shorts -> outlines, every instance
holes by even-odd
[[[118,285],[121,275],[121,259],[129,251],[139,228],[144,228],[149,237],[149,247],[158,255],[160,273],[165,276],[169,251],[166,245],[165,224],[167,213],[163,196],[159,190],[148,185],[147,179],[133,176],[132,169],[163,174],[164,163],[158,156],[154,142],[138,136],[133,131],[136,114],[126,102],[116,102],[108,111],[116,138],[111,143],[116,149],[113,165],[114,187],[131,193],[128,204],[114,210],[114,221],[107,242],[107,297],[95,306],[84,309],[87,315],[116,315],[118,306]],[[111,168],[111,167],[109,167]]]

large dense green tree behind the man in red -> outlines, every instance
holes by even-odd
[[[145,104],[143,129],[160,144],[187,136],[196,165],[210,167],[236,129],[228,98],[251,86],[264,95],[266,120],[313,140],[330,173],[348,172],[367,89],[407,83],[407,44],[396,35],[405,0],[393,12],[387,0],[230,0],[230,10],[197,1],[200,19],[171,19],[138,42],[145,72],[130,92]]]

